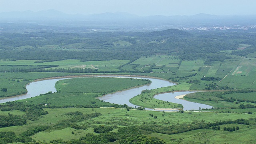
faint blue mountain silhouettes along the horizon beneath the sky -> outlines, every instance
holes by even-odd
[[[57,10],[44,10],[39,12],[33,12],[30,10],[27,11],[13,11],[13,12],[0,12],[0,19],[27,19],[27,20],[35,20],[35,19],[88,19],[88,20],[127,20],[127,19],[145,19],[145,20],[166,20],[170,18],[232,18],[232,17],[242,17],[242,16],[217,16],[210,14],[196,14],[192,16],[137,16],[135,14],[129,14],[126,12],[106,12],[101,14],[91,14],[91,15],[83,15],[83,14],[65,14],[64,12],[60,12]],[[244,16],[243,16],[244,17]],[[253,16],[256,17],[256,16]]]

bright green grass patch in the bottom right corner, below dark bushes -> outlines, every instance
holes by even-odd
[[[236,127],[239,126],[239,130],[228,132],[224,131],[222,127]],[[253,138],[253,134],[255,133],[255,126],[244,126],[241,124],[235,125],[223,125],[220,126],[220,130],[211,130],[211,129],[200,129],[200,130],[192,130],[189,132],[184,132],[180,134],[160,134],[160,133],[152,133],[149,136],[157,136],[158,138],[162,138],[166,141],[167,144],[188,144],[188,143],[247,143],[253,144],[255,143],[255,138]],[[240,136],[241,135],[241,136]],[[238,139],[239,138],[239,139]]]

